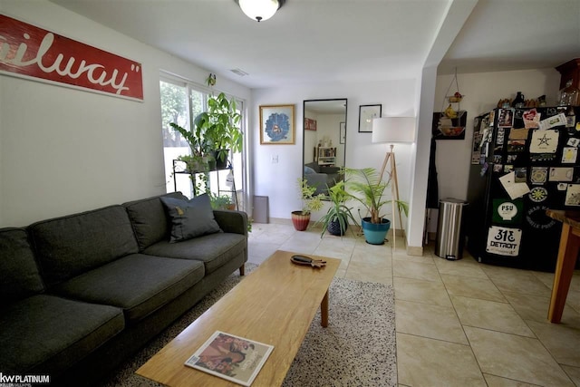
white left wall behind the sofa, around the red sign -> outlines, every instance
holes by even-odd
[[[165,192],[160,70],[204,84],[209,71],[45,0],[3,14],[142,64],[144,102],[0,75],[0,227]],[[218,79],[249,101],[250,92]]]

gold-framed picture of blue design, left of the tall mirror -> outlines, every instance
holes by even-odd
[[[260,105],[260,144],[294,143],[294,105]]]

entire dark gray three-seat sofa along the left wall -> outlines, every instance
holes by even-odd
[[[0,372],[89,385],[243,275],[247,215],[208,204],[178,192],[0,229]]]

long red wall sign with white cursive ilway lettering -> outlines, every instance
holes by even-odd
[[[140,63],[5,15],[0,73],[143,100]]]

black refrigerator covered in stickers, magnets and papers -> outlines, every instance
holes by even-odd
[[[498,108],[478,116],[465,234],[479,262],[553,272],[560,222],[580,209],[580,107]]]

